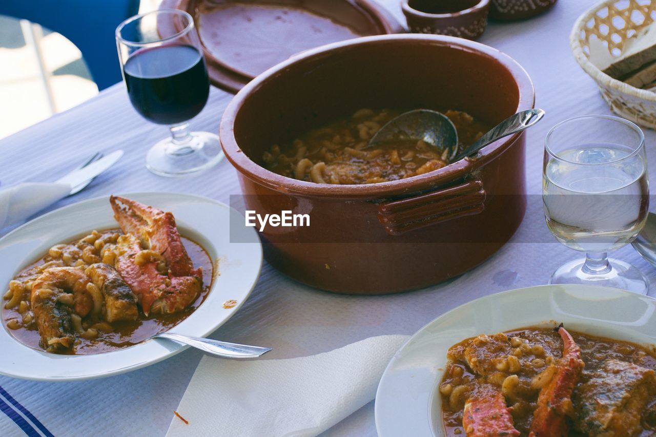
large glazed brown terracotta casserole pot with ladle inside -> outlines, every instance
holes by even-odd
[[[220,138],[246,209],[310,215],[310,226],[264,228],[272,266],[338,293],[395,293],[462,274],[510,239],[526,209],[525,134],[476,159],[367,185],[283,177],[262,167],[263,152],[360,108],[450,108],[496,124],[533,102],[527,73],[491,47],[438,35],[364,37],[256,77],[228,105]]]

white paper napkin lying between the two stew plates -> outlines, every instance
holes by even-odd
[[[204,356],[167,436],[316,436],[376,396],[407,335],[382,335],[285,360]]]

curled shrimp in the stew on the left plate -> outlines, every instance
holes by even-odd
[[[72,314],[85,317],[91,312],[92,299],[87,291],[89,278],[74,267],[45,270],[32,285],[30,301],[47,352],[61,352],[75,342]]]

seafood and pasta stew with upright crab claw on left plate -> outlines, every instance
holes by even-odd
[[[110,204],[118,229],[54,245],[9,282],[2,318],[21,343],[58,354],[131,346],[207,296],[212,261],[180,236],[172,213],[115,196]]]

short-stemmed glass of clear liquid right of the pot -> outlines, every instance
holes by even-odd
[[[609,115],[565,120],[546,136],[543,201],[556,239],[586,253],[550,283],[582,283],[647,293],[634,266],[607,253],[633,241],[645,225],[649,180],[645,139],[630,121]]]

